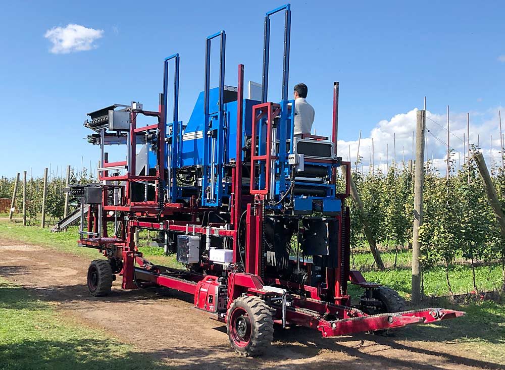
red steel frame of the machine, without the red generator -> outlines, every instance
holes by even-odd
[[[204,276],[188,271],[161,268],[154,266],[142,257],[135,245],[134,234],[137,229],[151,229],[181,232],[187,234],[211,234],[219,237],[228,237],[233,240],[234,246],[234,262],[240,259],[239,250],[239,235],[240,220],[243,212],[245,212],[245,263],[244,272],[230,272],[228,274],[228,307],[233,300],[242,294],[257,295],[263,298],[269,298],[272,295],[277,295],[272,291],[264,289],[267,284],[276,285],[286,289],[301,290],[308,294],[308,298],[296,297],[293,295],[292,305],[286,311],[286,321],[288,323],[306,326],[319,330],[324,337],[336,335],[356,333],[360,331],[383,330],[390,328],[403,327],[410,324],[429,323],[443,319],[451,319],[461,316],[464,313],[460,311],[444,310],[438,308],[426,308],[417,311],[408,311],[400,313],[386,313],[379,315],[367,315],[360,310],[349,307],[350,298],[347,295],[347,282],[352,281],[363,286],[367,286],[365,279],[359,272],[349,271],[348,260],[348,230],[349,230],[349,214],[348,208],[343,208],[341,215],[336,216],[339,224],[344,227],[346,234],[342,235],[342,227],[339,227],[338,235],[338,261],[339,265],[334,269],[326,269],[326,282],[318,287],[309,285],[296,284],[279,279],[261,278],[262,275],[262,239],[263,239],[263,207],[262,202],[265,195],[268,193],[268,179],[270,178],[270,163],[275,159],[271,153],[272,142],[272,120],[279,114],[280,105],[272,102],[255,105],[252,109],[252,132],[256,133],[261,120],[267,122],[267,142],[266,154],[251,156],[251,167],[254,168],[258,161],[265,161],[266,165],[266,187],[265,189],[255,188],[253,181],[250,185],[251,196],[242,195],[242,117],[243,117],[243,73],[244,66],[238,66],[238,106],[237,106],[237,149],[235,157],[235,166],[232,172],[232,208],[231,208],[231,228],[219,228],[219,225],[214,227],[201,227],[196,225],[196,214],[205,210],[203,207],[196,205],[195,199],[192,199],[189,207],[181,203],[165,203],[160,202],[158,194],[158,186],[156,187],[155,201],[148,202],[132,202],[130,197],[130,184],[135,181],[153,181],[156,184],[165,180],[163,170],[164,158],[164,137],[165,137],[165,122],[163,121],[164,110],[163,99],[160,99],[159,112],[148,111],[133,111],[131,113],[131,128],[130,128],[130,168],[128,168],[124,176],[108,176],[107,172],[104,176],[100,176],[100,181],[114,180],[125,181],[124,196],[121,206],[107,204],[107,186],[104,186],[104,201],[103,213],[98,215],[95,208],[90,207],[88,213],[88,231],[97,232],[97,217],[102,217],[104,225],[102,238],[81,238],[80,244],[84,246],[98,248],[109,258],[122,260],[120,275],[122,275],[122,288],[134,289],[138,287],[138,281],[147,282],[158,286],[168,287],[180,290],[189,294],[197,294],[197,283],[204,280]],[[333,95],[333,129],[332,141],[334,143],[336,153],[337,142],[337,120],[338,120],[338,83],[334,85]],[[142,128],[136,127],[136,119],[138,114],[146,116],[158,117],[158,124],[150,125]],[[134,176],[135,169],[135,147],[136,134],[143,133],[147,130],[158,130],[159,132],[159,155],[156,176]],[[256,135],[252,135],[252,148],[256,148]],[[317,162],[316,160],[311,160]],[[336,159],[319,160],[323,163],[332,163],[335,165],[344,166],[346,169],[347,179],[350,176],[350,163],[339,162]],[[124,166],[126,162],[105,163],[103,167]],[[333,172],[333,183],[335,183],[336,172]],[[349,195],[349,182],[346,183],[345,193],[337,194],[337,197],[343,200]],[[254,199],[256,196],[256,199]],[[160,209],[162,204],[162,209]],[[245,208],[245,211],[243,209]],[[125,221],[125,230],[122,235],[114,235],[107,237],[107,222],[114,219],[108,216],[108,212],[120,211],[126,212],[129,216],[128,221]],[[177,221],[176,217],[180,214],[191,214],[192,222]],[[172,219],[164,219],[160,221],[160,217],[170,216]],[[347,253],[347,254],[346,254]],[[207,275],[206,282],[217,282],[217,277]],[[368,284],[368,286],[373,286]],[[376,285],[378,286],[378,285]],[[195,299],[195,302],[197,300]],[[197,303],[195,303],[197,304]],[[203,308],[203,307],[198,307]],[[276,307],[274,307],[276,308]],[[274,321],[281,322],[281,307],[276,308]],[[310,312],[313,312],[311,314]],[[325,319],[325,317],[333,316],[334,320]],[[226,322],[226,316],[219,316],[218,320]]]

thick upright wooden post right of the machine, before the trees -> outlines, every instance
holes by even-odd
[[[424,186],[424,140],[426,131],[426,111],[417,112],[416,133],[416,176],[414,180],[414,225],[412,235],[412,302],[421,302],[421,242],[419,228],[423,224]]]

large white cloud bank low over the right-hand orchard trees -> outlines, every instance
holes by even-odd
[[[484,112],[470,112],[470,146],[478,145],[488,164],[493,158],[495,165],[501,165],[500,160],[500,130],[498,110],[501,107],[489,109]],[[378,122],[369,133],[362,133],[360,141],[360,157],[364,171],[367,172],[372,162],[372,138],[373,138],[373,163],[376,169],[385,170],[386,163],[391,165],[396,158],[398,166],[403,159],[413,158],[413,138],[415,141],[417,108],[395,115],[389,120]],[[450,137],[449,145],[453,149],[452,160],[456,166],[462,166],[465,154],[468,151],[467,113],[449,112]],[[447,160],[447,115],[426,112],[426,129],[428,137],[428,151],[425,158],[432,165],[444,172],[444,161]],[[359,130],[359,128],[358,128]],[[502,124],[503,133],[505,125]],[[463,138],[465,137],[465,143]],[[491,139],[492,137],[492,139]],[[356,132],[358,139],[358,131]],[[491,141],[492,140],[492,141]],[[415,150],[415,148],[414,148]],[[344,161],[355,164],[358,153],[358,140],[338,140],[338,155]]]

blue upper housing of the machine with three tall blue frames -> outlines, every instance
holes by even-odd
[[[225,86],[226,33],[220,31],[206,38],[204,90],[199,93],[188,122],[183,124],[178,118],[180,57],[174,54],[165,59],[161,104],[166,123],[165,164],[166,178],[169,180],[165,186],[168,202],[176,203],[197,196],[201,206],[221,207],[229,204],[232,192],[230,165],[234,164],[237,156],[236,135],[241,135],[241,142],[245,144],[244,150],[240,151],[239,160],[243,164],[250,164],[251,148],[248,145],[251,143],[251,135],[255,134],[251,132],[254,120],[252,107],[268,101],[270,17],[282,11],[285,18],[282,99],[278,102],[280,112],[273,123],[274,144],[267,147],[270,126],[262,118],[257,125],[258,144],[254,148],[259,156],[272,150],[275,158],[271,164],[272,173],[267,174],[266,160],[252,162],[256,165],[244,167],[243,171],[250,173],[250,181],[254,182],[251,189],[269,189],[265,207],[281,208],[282,203],[289,200],[295,214],[311,214],[314,210],[328,215],[340,212],[341,204],[335,194],[335,185],[324,180],[331,178],[332,171],[339,163],[321,161],[321,158],[335,159],[333,143],[293,137],[295,102],[288,99],[291,28],[289,5],[274,9],[265,16],[261,101],[244,98],[239,102],[237,88]],[[210,88],[212,41],[218,41],[220,45],[219,85],[214,88]],[[168,122],[170,63],[174,65],[173,118]],[[237,132],[236,122],[238,104],[242,104],[240,132]],[[149,163],[153,167],[157,162],[156,151],[151,150],[149,155]],[[250,184],[244,182],[243,186]]]

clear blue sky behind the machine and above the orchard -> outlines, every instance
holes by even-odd
[[[53,171],[67,164],[80,168],[81,157],[85,167],[96,163],[97,147],[82,139],[90,133],[82,126],[86,113],[132,100],[156,110],[162,61],[174,52],[181,56],[180,118],[187,121],[203,89],[205,37],[221,29],[227,33],[226,83],[236,86],[239,63],[246,80],[260,82],[264,13],[282,4],[4,2],[0,174],[32,168],[36,176],[50,164]],[[340,82],[344,159],[348,145],[351,159],[356,155],[360,129],[361,150],[368,153],[366,139],[374,136],[376,156],[384,155],[395,132],[397,151],[405,146],[410,157],[414,115],[409,112],[422,108],[425,95],[434,121],[445,124],[449,104],[455,129],[464,130],[470,112],[472,142],[477,134],[488,143],[490,134],[498,140],[496,116],[505,82],[503,2],[292,1],[291,6],[290,89],[297,82],[309,86],[314,127],[328,134],[332,85]],[[280,96],[282,21],[278,16],[272,23],[272,45],[279,45],[271,54],[272,100]],[[103,32],[89,50],[51,52],[54,45],[44,35],[68,24]],[[428,128],[434,125],[432,132],[444,138],[430,122]],[[442,158],[443,145],[432,142],[434,157]]]

